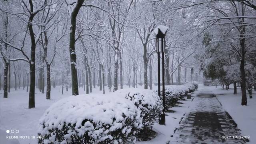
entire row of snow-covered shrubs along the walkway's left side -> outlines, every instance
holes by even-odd
[[[197,84],[198,85],[198,84]],[[166,86],[166,110],[196,86]],[[135,143],[162,111],[157,90],[122,89],[111,94],[70,96],[52,104],[40,118],[39,144]]]

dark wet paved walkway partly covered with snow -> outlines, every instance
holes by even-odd
[[[245,144],[240,130],[218,99],[207,90],[194,97],[193,106],[175,132],[176,144]],[[228,136],[222,138],[222,136]],[[231,136],[231,137],[229,137]],[[238,139],[233,138],[238,136]]]

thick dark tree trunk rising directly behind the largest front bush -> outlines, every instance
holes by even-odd
[[[76,16],[83,3],[84,3],[84,0],[77,0],[76,6],[71,14],[69,52],[70,52],[70,64],[71,64],[72,95],[79,94],[77,70],[76,70],[75,33],[76,33]]]

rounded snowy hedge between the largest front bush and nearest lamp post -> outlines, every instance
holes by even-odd
[[[113,93],[116,96],[123,96],[141,111],[143,129],[152,128],[154,122],[158,120],[158,115],[162,111],[162,101],[153,90],[138,88],[128,88],[117,90]]]

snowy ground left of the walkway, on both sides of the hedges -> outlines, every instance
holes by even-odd
[[[197,91],[196,91],[197,92]],[[3,91],[0,91],[2,94]],[[98,88],[93,90],[93,93],[102,93]],[[109,93],[106,90],[106,93]],[[80,88],[80,94],[85,94],[83,88]],[[8,94],[8,98],[0,98],[0,139],[4,144],[36,144],[37,139],[32,136],[37,136],[39,128],[39,119],[44,112],[54,102],[66,98],[71,95],[71,90],[64,94],[61,94],[61,88],[53,88],[51,93],[51,100],[46,100],[45,94],[36,89],[35,102],[36,108],[28,109],[28,92],[25,90],[11,89],[11,93]],[[191,99],[192,100],[192,99]],[[150,142],[166,142],[168,138],[174,133],[175,128],[179,127],[179,122],[185,112],[189,110],[189,106],[192,103],[191,100],[181,101],[184,104],[179,104],[181,107],[174,107],[174,113],[166,113],[166,126],[154,124],[153,130],[158,133],[158,136]],[[8,136],[30,136],[24,139],[6,139],[6,130],[19,130],[19,133],[9,133]],[[138,143],[150,143],[150,142],[138,142]]]

